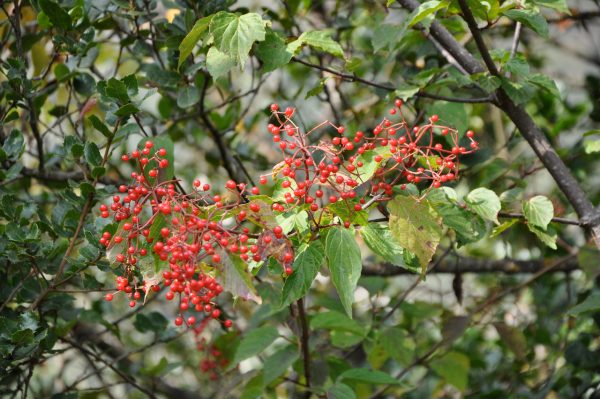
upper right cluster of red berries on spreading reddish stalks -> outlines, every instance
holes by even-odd
[[[465,134],[470,142],[467,150],[459,145],[458,131],[439,125],[437,115],[427,123],[410,126],[402,114],[402,105],[401,100],[396,100],[389,111],[400,121],[384,118],[370,134],[357,131],[353,135],[329,121],[303,132],[292,119],[294,108],[280,111],[277,104],[271,105],[275,123],[267,129],[284,157],[271,173],[284,190],[283,201],[274,203],[273,210],[285,212],[307,204],[314,213],[328,204],[343,202],[349,211],[344,214],[352,214],[375,201],[389,199],[394,186],[405,189],[407,183],[413,183],[438,188],[455,180],[459,157],[478,148],[474,133]],[[335,137],[311,143],[309,136],[324,126],[333,127]],[[266,176],[261,176],[260,183],[267,183]],[[311,219],[318,224],[315,215]],[[350,223],[346,220],[344,225],[348,227]]]

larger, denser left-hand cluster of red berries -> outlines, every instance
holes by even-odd
[[[117,290],[128,295],[133,307],[149,290],[158,292],[162,285],[168,287],[165,298],[179,302],[175,325],[193,327],[202,320],[216,319],[230,327],[231,320],[222,320],[215,301],[223,286],[214,271],[222,262],[232,262],[233,256],[248,261],[253,255],[255,261],[262,260],[259,247],[249,243],[250,230],[242,225],[247,213],[239,208],[247,187],[228,181],[225,189],[234,199],[227,204],[220,195],[209,195],[210,185],[199,180],[194,181],[192,193],[181,192],[174,181],[160,181],[160,170],[168,166],[167,151],[154,151],[153,146],[148,141],[142,151],[123,155],[124,162],[135,160],[139,171],[131,174],[130,186],[119,187],[121,195],[115,195],[110,206],[100,206],[102,217],[108,218],[112,212],[120,222],[114,236],[105,232],[100,239],[109,258],[123,267]],[[250,192],[258,194],[258,188]],[[282,234],[280,227],[273,231]],[[140,265],[146,262],[164,262],[165,270],[157,277],[142,270]],[[113,297],[109,293],[105,299]]]

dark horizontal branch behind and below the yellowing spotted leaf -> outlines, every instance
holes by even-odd
[[[433,262],[435,263],[435,261]],[[546,267],[547,262],[542,260],[515,260],[515,259],[476,259],[469,257],[448,256],[428,273],[504,273],[504,274],[531,274],[538,273]],[[552,272],[571,272],[579,270],[579,263],[574,257],[569,257],[561,262]],[[398,276],[410,274],[410,271],[389,264],[365,265],[363,276]]]

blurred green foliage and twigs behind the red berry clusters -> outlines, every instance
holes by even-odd
[[[600,397],[598,250],[490,104],[499,86],[522,104],[598,204],[600,6],[467,1],[500,82],[463,74],[428,40],[435,19],[477,54],[457,1],[402,3],[0,0],[0,395]],[[114,275],[96,204],[127,181],[119,158],[140,140],[172,141],[184,186],[248,181],[280,160],[272,102],[305,127],[356,131],[395,98],[417,122],[476,131],[481,150],[454,189],[494,191],[502,224],[461,247],[446,235],[425,281],[363,245],[352,320],[323,270],[305,298],[310,389],[294,306],[279,306],[268,268],[262,305],[223,301],[234,331],[211,326],[200,351],[162,298],[133,311],[102,300]],[[567,223],[536,233],[510,216],[538,195]],[[231,366],[203,372],[213,348]]]

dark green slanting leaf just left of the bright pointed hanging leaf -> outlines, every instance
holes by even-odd
[[[294,273],[283,285],[281,306],[289,305],[308,292],[324,261],[325,248],[320,241],[311,241],[298,249],[294,260]]]

